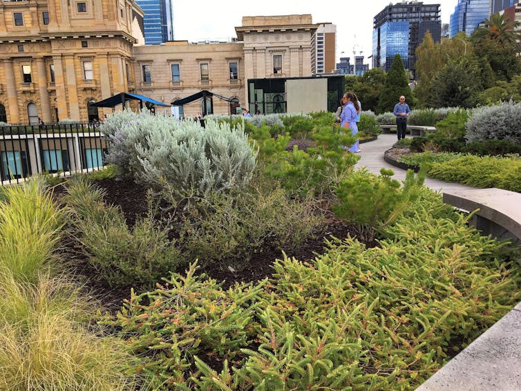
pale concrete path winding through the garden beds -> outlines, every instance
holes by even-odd
[[[382,167],[386,169],[392,169],[392,171],[395,172],[395,175],[392,178],[397,180],[405,180],[405,175],[407,173],[405,170],[391,166],[383,160],[383,153],[390,149],[392,144],[395,144],[395,142],[397,142],[397,137],[395,134],[382,134],[378,135],[378,140],[360,144],[361,153],[359,153],[359,155],[361,156],[361,159],[358,161],[357,167],[361,168],[366,166],[370,172],[375,174],[379,174]],[[466,186],[464,184],[447,183],[431,178],[425,178],[425,185],[430,187],[430,189],[440,192],[475,189],[475,187]]]

